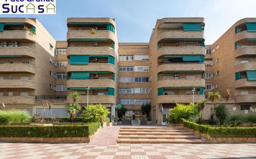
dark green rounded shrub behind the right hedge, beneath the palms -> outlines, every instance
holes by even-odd
[[[219,120],[219,124],[223,125],[229,117],[229,110],[227,110],[225,105],[217,105],[214,108],[214,114]]]

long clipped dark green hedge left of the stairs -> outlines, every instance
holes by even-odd
[[[56,126],[0,126],[0,137],[89,137],[100,122]]]

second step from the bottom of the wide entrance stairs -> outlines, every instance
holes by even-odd
[[[195,135],[119,135],[118,139],[200,139]]]

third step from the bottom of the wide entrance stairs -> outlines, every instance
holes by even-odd
[[[119,132],[119,135],[194,135],[191,132]]]

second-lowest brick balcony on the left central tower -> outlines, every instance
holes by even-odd
[[[110,79],[91,79],[91,80],[67,80],[66,87],[111,87],[115,88],[116,83]]]

